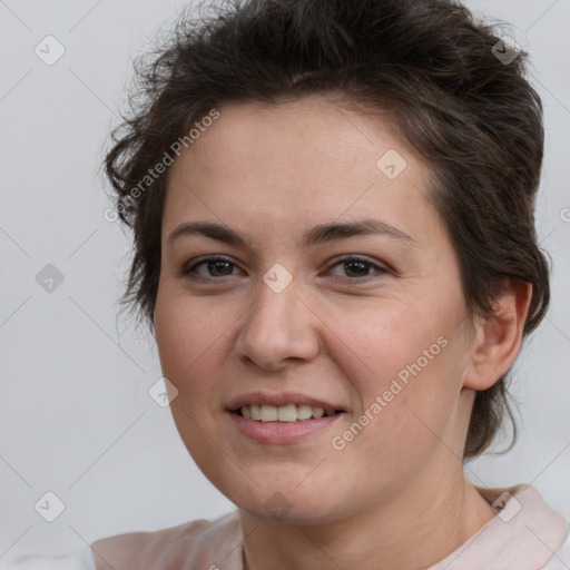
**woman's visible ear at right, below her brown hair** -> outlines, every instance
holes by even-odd
[[[531,298],[531,283],[507,281],[494,304],[494,316],[476,318],[464,387],[487,390],[512,366],[521,348]]]

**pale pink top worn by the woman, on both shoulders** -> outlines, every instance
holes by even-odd
[[[475,487],[498,513],[426,570],[569,570],[570,524],[530,485]],[[509,495],[501,495],[508,492]],[[495,502],[497,501],[497,502]],[[244,570],[238,511],[156,532],[98,540],[73,558],[35,559],[14,570]],[[51,560],[51,561],[50,561]],[[67,562],[67,563],[66,563]],[[35,566],[37,564],[37,566]],[[1,567],[0,567],[1,568]],[[10,569],[11,570],[11,569]]]

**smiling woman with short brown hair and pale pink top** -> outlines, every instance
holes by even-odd
[[[104,538],[86,563],[570,567],[534,488],[464,476],[549,303],[524,61],[451,0],[183,17],[106,167],[136,243],[124,301],[237,510]]]

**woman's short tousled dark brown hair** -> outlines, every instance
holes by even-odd
[[[549,265],[534,229],[542,105],[528,55],[500,60],[490,24],[452,0],[230,0],[193,20],[183,11],[161,47],[136,62],[136,87],[105,167],[134,230],[121,304],[154,330],[167,175],[148,177],[213,108],[340,94],[389,112],[426,160],[430,198],[458,253],[470,312],[490,316],[504,279],[533,287],[523,334],[549,304]],[[132,189],[139,185],[134,199]],[[464,459],[482,453],[509,407],[508,375],[476,393]],[[512,446],[511,444],[511,446]],[[510,448],[509,448],[510,449]]]

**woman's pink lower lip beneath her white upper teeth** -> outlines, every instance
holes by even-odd
[[[228,413],[243,435],[261,443],[295,443],[323,432],[344,415],[338,413],[296,422],[259,422],[236,412]]]

